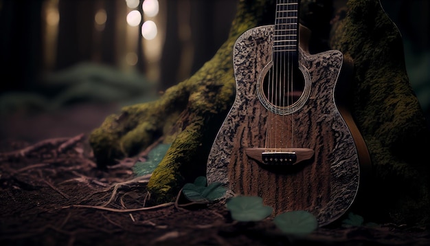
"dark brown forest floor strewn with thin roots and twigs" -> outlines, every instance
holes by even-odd
[[[149,176],[135,177],[131,162],[95,165],[88,133],[114,110],[81,106],[3,120],[1,245],[430,245],[429,231],[411,225],[335,223],[297,238],[271,219],[236,223],[223,203],[187,206],[179,197],[150,205]]]

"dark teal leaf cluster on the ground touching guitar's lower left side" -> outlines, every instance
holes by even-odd
[[[194,183],[185,183],[182,193],[192,202],[207,203],[223,197],[226,190],[220,182],[210,183],[207,186],[206,177],[200,176],[194,180]]]

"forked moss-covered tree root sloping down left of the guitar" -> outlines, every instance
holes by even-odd
[[[136,155],[164,137],[172,146],[148,183],[156,203],[172,201],[185,181],[205,175],[210,146],[234,100],[234,42],[242,32],[264,23],[273,1],[239,1],[229,38],[196,74],[170,87],[159,100],[109,115],[89,137],[98,166]]]

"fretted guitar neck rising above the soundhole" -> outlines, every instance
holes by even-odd
[[[297,62],[299,40],[299,0],[276,2],[275,32],[273,34],[273,59],[291,58]]]

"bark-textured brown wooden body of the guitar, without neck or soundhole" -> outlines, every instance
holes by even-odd
[[[271,63],[272,44],[273,26],[267,25],[248,30],[234,45],[236,100],[210,151],[207,180],[225,183],[227,197],[262,197],[275,214],[306,210],[320,226],[326,225],[350,208],[359,188],[359,153],[335,103],[343,54],[299,49],[304,96],[297,107],[277,113],[258,93]],[[277,147],[282,150],[312,153],[304,153],[304,161],[294,165],[264,164],[258,159],[269,138],[281,145],[288,142]]]

